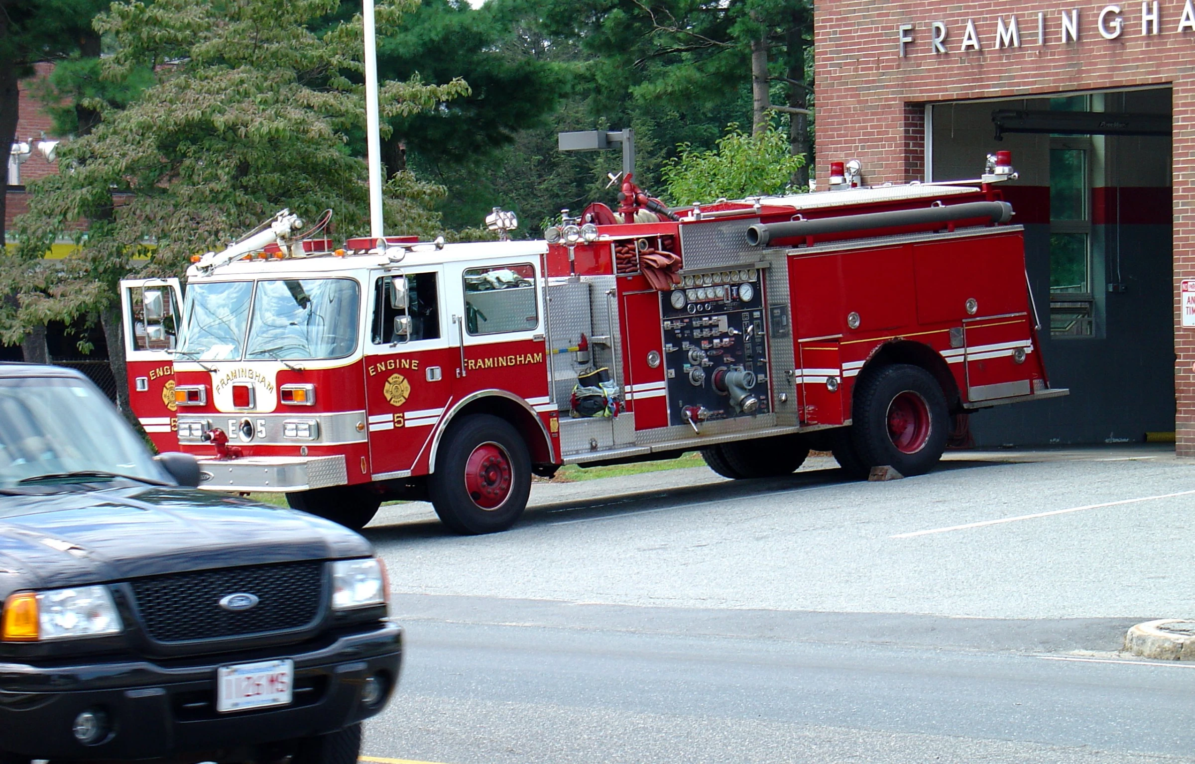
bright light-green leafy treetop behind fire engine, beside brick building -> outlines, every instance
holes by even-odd
[[[668,198],[675,204],[771,196],[790,190],[804,156],[789,153],[789,136],[772,129],[756,136],[731,124],[713,149],[679,147],[679,155],[663,167]]]

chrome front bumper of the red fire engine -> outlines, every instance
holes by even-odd
[[[290,492],[349,482],[344,456],[246,456],[200,460],[204,491]]]

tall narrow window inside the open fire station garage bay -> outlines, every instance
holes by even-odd
[[[1056,337],[1093,332],[1090,159],[1090,138],[1050,140],[1050,334]]]

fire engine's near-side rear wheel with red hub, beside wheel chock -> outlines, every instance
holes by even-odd
[[[942,458],[950,411],[942,386],[925,369],[893,364],[868,375],[854,390],[854,449],[870,467],[921,475]]]

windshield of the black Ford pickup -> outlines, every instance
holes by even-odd
[[[168,476],[91,383],[61,377],[0,380],[0,488],[127,475]],[[78,478],[71,478],[78,475]],[[44,476],[44,478],[43,478]]]

